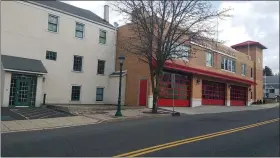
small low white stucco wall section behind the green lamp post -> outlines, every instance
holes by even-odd
[[[125,103],[125,89],[126,89],[126,75],[122,77],[122,91],[121,91],[121,105]],[[119,95],[119,77],[112,76],[109,79],[108,95],[106,95],[106,100],[108,104],[118,104]]]

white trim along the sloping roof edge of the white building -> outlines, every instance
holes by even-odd
[[[49,7],[49,6],[40,4],[40,3],[36,3],[36,2],[33,2],[33,1],[24,1],[24,2],[22,2],[22,1],[17,1],[17,3],[23,3],[23,4],[30,3],[30,4],[39,6],[39,7],[43,7],[43,8],[50,9],[50,10],[54,10],[54,11],[57,11],[57,12],[60,12],[60,13],[66,14],[66,15],[73,16],[73,17],[75,17],[75,18],[79,18],[79,19],[82,19],[82,20],[85,20],[85,21],[88,21],[88,22],[91,22],[91,23],[94,23],[94,24],[101,25],[101,26],[103,26],[103,27],[107,27],[107,28],[116,30],[116,28],[114,28],[114,27],[110,27],[110,26],[108,26],[108,25],[105,25],[105,24],[102,24],[102,23],[99,23],[99,22],[96,22],[96,21],[93,21],[93,20],[90,20],[90,19],[87,19],[87,18],[83,18],[83,17],[81,17],[81,16],[78,16],[78,15],[75,15],[75,14],[71,14],[71,13],[68,13],[68,12],[65,12],[65,11],[62,11],[62,10],[59,10],[59,9],[56,9],[56,8],[52,8],[52,7]],[[66,3],[66,4],[67,4],[67,3]]]

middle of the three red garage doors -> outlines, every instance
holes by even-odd
[[[225,84],[203,80],[202,105],[225,105]]]

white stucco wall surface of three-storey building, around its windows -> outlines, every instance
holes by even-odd
[[[46,103],[95,104],[98,86],[104,87],[107,98],[108,75],[115,66],[115,30],[26,2],[4,1],[1,10],[1,53],[43,62],[48,73],[39,87],[44,87],[40,93],[47,94]],[[47,31],[48,14],[59,16],[58,33]],[[75,38],[76,22],[85,25],[84,39]],[[107,31],[105,45],[99,44],[99,29]],[[47,50],[57,52],[56,61],[45,59]],[[83,56],[80,73],[72,71],[74,55]],[[97,75],[98,59],[106,61],[105,75]],[[71,85],[81,85],[79,102],[71,102]]]

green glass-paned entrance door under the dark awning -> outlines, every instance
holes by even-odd
[[[30,86],[29,79],[16,80],[15,106],[29,106],[30,105]]]

